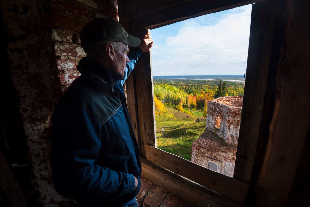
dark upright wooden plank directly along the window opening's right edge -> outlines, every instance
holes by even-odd
[[[249,52],[234,178],[250,183],[267,86],[274,13],[270,2],[252,6]],[[259,164],[257,165],[259,167]]]

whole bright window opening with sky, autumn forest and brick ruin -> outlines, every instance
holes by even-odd
[[[157,148],[204,167],[207,154],[231,177],[250,15],[246,5],[151,30]]]

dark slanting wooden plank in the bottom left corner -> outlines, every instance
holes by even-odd
[[[12,207],[26,207],[28,202],[17,183],[10,166],[0,149],[0,187],[10,200]]]

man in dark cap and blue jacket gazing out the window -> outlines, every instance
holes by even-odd
[[[79,206],[138,206],[141,162],[122,85],[153,46],[115,20],[94,19],[80,33],[81,76],[52,115],[51,168],[56,191]],[[132,53],[128,46],[137,47]]]

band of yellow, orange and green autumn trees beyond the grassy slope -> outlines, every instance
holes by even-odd
[[[207,102],[222,96],[243,95],[244,83],[209,81],[154,79],[155,110],[165,110],[165,104],[179,111],[200,109],[207,112]]]

